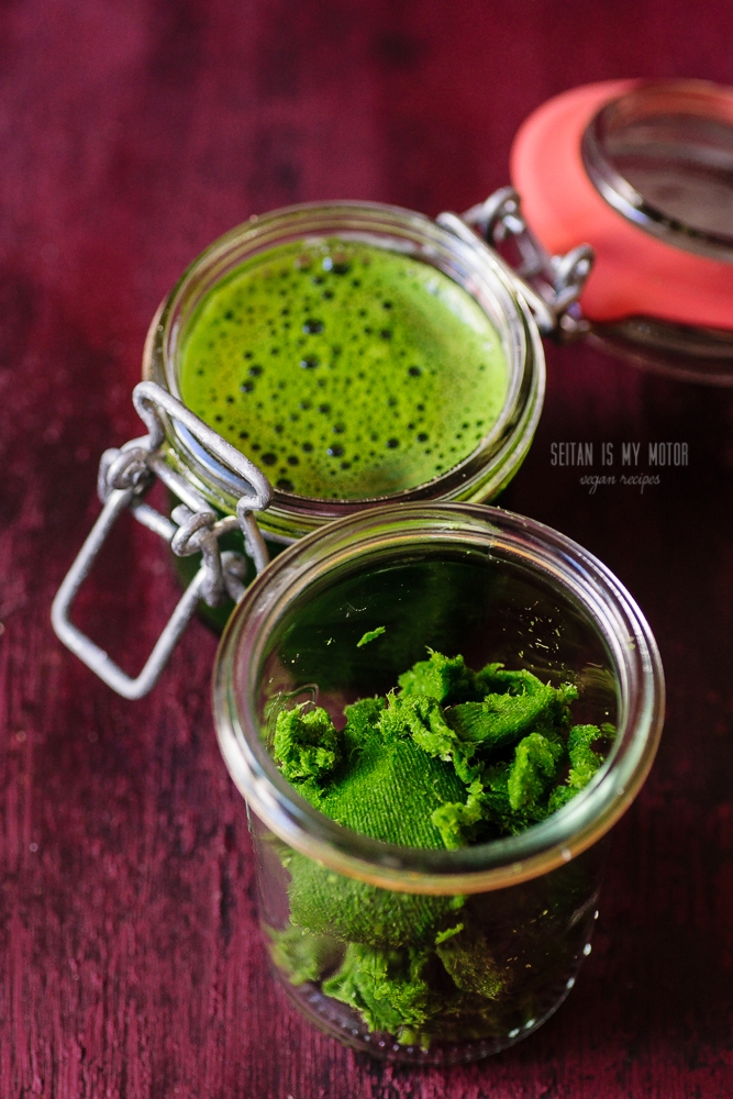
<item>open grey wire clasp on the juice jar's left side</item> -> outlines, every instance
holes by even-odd
[[[99,464],[98,492],[102,511],[81,546],[76,560],[54,599],[51,621],[59,640],[91,668],[100,679],[124,698],[137,699],[155,686],[199,599],[216,607],[229,596],[238,601],[245,591],[247,563],[240,553],[219,548],[219,539],[241,530],[248,556],[257,573],[269,560],[255,512],[269,507],[273,487],[245,455],[199,420],[175,397],[153,381],[141,381],[133,390],[133,403],[148,434],[124,446],[105,451]],[[165,413],[182,424],[219,462],[249,486],[240,498],[236,515],[218,519],[207,500],[166,463],[162,447]],[[143,497],[158,477],[182,501],[167,519],[145,503]],[[127,676],[108,654],[71,622],[74,600],[89,575],[102,545],[119,517],[130,508],[135,519],[169,543],[179,557],[201,553],[198,573],[181,596],[138,676]]]

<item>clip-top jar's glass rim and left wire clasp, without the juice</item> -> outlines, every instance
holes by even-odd
[[[102,456],[99,495],[104,508],[52,609],[60,640],[119,693],[141,698],[151,690],[197,607],[206,603],[210,621],[222,626],[233,601],[280,545],[387,501],[490,499],[514,476],[532,442],[544,399],[542,341],[526,303],[534,291],[529,286],[522,289],[501,258],[459,218],[446,214],[438,221],[363,202],[278,210],[253,218],[214,242],[165,299],[145,343],[145,380],[133,392],[148,434]],[[207,297],[253,257],[287,245],[313,246],[331,240],[407,255],[442,271],[488,318],[506,362],[503,404],[478,445],[438,476],[399,492],[333,499],[273,488],[238,446],[226,442],[180,399],[181,347]],[[538,298],[535,304],[553,323],[548,307]],[[170,518],[144,501],[155,477],[173,498]],[[179,558],[180,578],[188,584],[135,677],[122,671],[71,621],[79,587],[125,508],[169,542]]]

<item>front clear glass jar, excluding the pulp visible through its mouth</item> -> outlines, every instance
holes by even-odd
[[[574,721],[618,729],[601,769],[543,823],[459,850],[381,843],[318,812],[273,759],[277,714],[316,702],[343,725],[345,704],[389,690],[425,646],[575,685]],[[214,709],[247,801],[275,972],[308,1018],[377,1057],[451,1064],[552,1014],[590,953],[606,836],[663,722],[654,639],[603,565],[491,508],[348,517],[248,590],[220,646]]]

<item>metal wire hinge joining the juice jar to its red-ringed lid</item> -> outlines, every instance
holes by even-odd
[[[519,284],[543,335],[569,340],[589,331],[577,301],[593,265],[593,249],[579,244],[564,256],[552,256],[524,221],[513,187],[500,188],[460,218],[442,213],[437,221],[463,240],[475,242],[475,231],[480,234],[495,259]],[[510,240],[519,253],[517,268],[499,251]]]

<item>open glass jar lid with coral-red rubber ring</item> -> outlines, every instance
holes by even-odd
[[[549,252],[592,246],[580,304],[597,337],[733,381],[733,89],[574,88],[520,127],[511,176]]]

